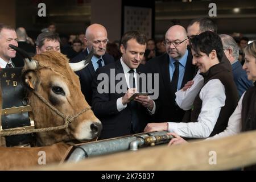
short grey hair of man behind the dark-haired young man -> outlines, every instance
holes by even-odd
[[[234,38],[226,34],[220,34],[220,38],[222,40],[223,49],[232,49],[232,56],[237,60],[239,56],[239,47]]]

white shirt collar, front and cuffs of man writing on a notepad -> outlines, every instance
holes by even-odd
[[[123,60],[122,60],[122,57],[120,58],[120,61],[121,61],[121,65],[123,67],[123,72],[125,73],[125,80],[126,80],[126,84],[127,84],[127,87],[130,88],[130,83],[129,83],[129,77],[130,77],[130,73],[128,73],[130,71],[131,68],[129,68],[125,63],[123,63]],[[136,69],[133,69],[134,70],[134,78],[135,78],[135,85],[136,85],[136,88],[137,88],[137,72],[136,72]],[[118,98],[117,99],[117,110],[120,112],[121,110],[125,109],[125,107],[127,107],[127,104],[123,105],[122,103],[122,97]],[[152,111],[148,110],[148,112],[150,114],[155,114],[155,102],[153,101],[153,109]]]

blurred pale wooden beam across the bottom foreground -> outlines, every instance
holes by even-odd
[[[256,131],[233,137],[97,156],[47,170],[222,170],[256,163]],[[216,154],[216,158],[214,158]],[[216,160],[215,160],[216,159]],[[216,162],[216,164],[214,164]],[[35,169],[35,168],[34,168]]]

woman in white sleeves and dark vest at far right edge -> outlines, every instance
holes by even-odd
[[[223,132],[212,138],[222,138],[236,135],[243,131],[256,130],[256,41],[245,48],[245,64],[243,64],[248,80],[254,82],[254,86],[243,93],[236,110],[229,118],[228,127]],[[175,133],[169,133],[173,138],[169,145],[185,143],[186,141]],[[256,170],[256,165],[246,167],[246,170]]]

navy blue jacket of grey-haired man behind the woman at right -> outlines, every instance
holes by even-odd
[[[253,82],[248,80],[246,72],[243,70],[240,61],[232,64],[232,72],[239,97],[241,97],[243,92],[253,86]]]

